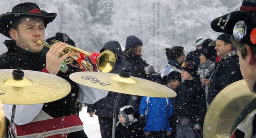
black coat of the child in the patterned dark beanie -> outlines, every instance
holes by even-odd
[[[197,76],[194,80],[184,80],[176,89],[176,115],[178,121],[184,117],[194,124],[203,126],[206,114],[204,88]]]

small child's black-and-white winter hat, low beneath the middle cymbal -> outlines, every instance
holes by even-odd
[[[134,120],[134,108],[130,105],[121,107],[119,114],[123,115],[125,118],[125,124]]]

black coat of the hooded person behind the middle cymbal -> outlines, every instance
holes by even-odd
[[[134,75],[133,66],[130,63],[128,63],[126,60],[120,57],[116,59],[116,65],[114,66],[113,70],[111,70],[110,73],[119,74],[119,72],[125,67],[127,67],[130,70],[131,75],[133,76]],[[94,112],[96,110],[95,115],[99,117],[104,117],[104,118],[112,118],[117,95],[118,93],[109,91],[106,97],[100,99],[94,104],[89,104],[87,108],[87,112],[88,113]],[[126,105],[132,105],[133,107],[136,107],[135,100],[136,99],[134,99],[133,95],[120,94],[118,109]]]

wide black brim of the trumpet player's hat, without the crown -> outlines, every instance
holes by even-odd
[[[44,21],[44,25],[46,26],[48,23],[52,22],[56,16],[57,16],[56,13],[33,14],[33,13],[22,13],[22,12],[21,13],[8,12],[6,14],[0,15],[0,33],[2,33],[4,36],[8,38],[11,38],[9,31],[12,26],[12,23],[22,17],[40,18]]]

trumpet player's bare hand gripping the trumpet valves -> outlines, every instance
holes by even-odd
[[[64,49],[67,48],[66,43],[56,43],[55,45],[52,45],[50,50],[46,54],[46,69],[54,75],[57,75],[57,73],[60,70],[61,64],[63,60],[68,58],[70,56],[70,52],[66,53],[65,55],[61,55],[61,52],[64,51]]]

